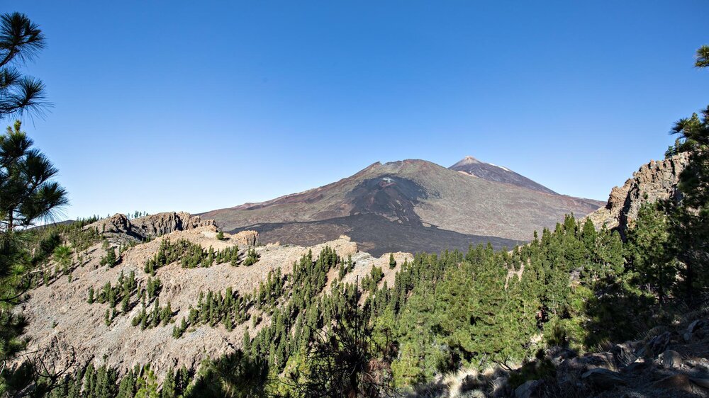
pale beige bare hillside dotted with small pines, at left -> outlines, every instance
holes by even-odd
[[[170,214],[170,213],[166,213]],[[155,216],[152,216],[155,217]],[[118,216],[111,217],[121,218]],[[158,217],[162,219],[162,217]],[[108,219],[108,220],[111,220]],[[103,220],[106,222],[107,220]],[[115,221],[115,220],[114,220]],[[152,224],[154,220],[131,220],[133,224]],[[393,273],[399,266],[389,269],[389,255],[374,258],[369,254],[359,252],[357,244],[347,237],[339,237],[334,241],[318,244],[310,248],[301,246],[267,245],[255,248],[260,255],[259,261],[252,266],[232,266],[230,263],[215,264],[208,268],[182,268],[179,261],[163,266],[157,270],[156,276],[162,280],[162,291],[159,295],[161,305],[170,303],[174,314],[174,324],[157,326],[141,330],[140,325],[132,326],[131,320],[140,313],[142,306],[139,303],[130,309],[128,314],[118,312],[109,326],[104,322],[107,303],[87,302],[88,290],[93,287],[96,295],[106,283],[116,285],[121,272],[128,277],[131,271],[135,272],[138,284],[145,286],[149,274],[144,272],[143,265],[148,258],[157,253],[163,239],[177,241],[187,239],[201,245],[203,248],[213,247],[215,250],[232,247],[238,242],[242,254],[247,246],[243,246],[245,234],[225,234],[225,240],[216,239],[217,229],[211,222],[200,222],[203,226],[177,229],[174,232],[162,235],[147,243],[138,244],[123,252],[123,260],[113,268],[100,266],[101,256],[106,250],[101,244],[91,246],[82,252],[82,263],[72,271],[72,281],[67,275],[62,275],[49,286],[40,286],[30,290],[30,299],[23,302],[21,312],[28,317],[26,337],[30,339],[28,352],[50,353],[43,358],[48,365],[56,365],[61,369],[71,358],[72,351],[76,353],[77,363],[86,363],[93,360],[96,366],[104,362],[123,371],[133,365],[150,363],[160,380],[168,368],[186,365],[187,368],[196,368],[203,358],[216,358],[223,353],[232,352],[242,345],[242,336],[249,330],[251,336],[262,326],[269,324],[266,314],[262,314],[264,321],[255,329],[252,322],[245,322],[235,326],[233,331],[227,331],[221,324],[216,327],[208,325],[197,326],[188,331],[179,339],[172,336],[172,327],[179,325],[182,318],[188,314],[190,306],[196,307],[199,292],[224,292],[232,288],[240,295],[257,289],[259,283],[266,280],[269,271],[280,268],[282,273],[290,273],[294,261],[298,261],[308,250],[312,250],[317,258],[320,250],[330,246],[343,257],[352,255],[354,269],[348,273],[344,281],[353,283],[355,278],[362,279],[367,275],[372,266],[379,266],[385,271],[385,280],[393,283]],[[110,223],[110,222],[109,222]],[[158,223],[159,224],[159,223]],[[250,237],[255,235],[246,234]],[[104,236],[110,237],[113,242],[122,241],[127,235],[118,236],[115,232],[108,232]],[[411,255],[395,254],[398,264]],[[78,263],[77,254],[74,254],[74,263]],[[53,268],[53,263],[50,263]],[[336,275],[336,273],[335,273]],[[331,276],[333,278],[333,276]],[[383,281],[381,283],[384,283]],[[121,303],[116,305],[121,308]],[[148,306],[152,309],[152,305]],[[251,311],[254,311],[252,309]],[[260,312],[259,312],[260,313]],[[51,348],[51,349],[48,349]],[[33,354],[34,355],[34,354]]]

